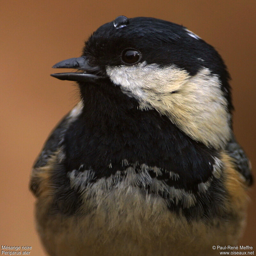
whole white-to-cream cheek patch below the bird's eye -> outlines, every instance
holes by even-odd
[[[228,102],[219,76],[208,68],[190,76],[175,65],[161,68],[144,61],[134,66],[107,66],[106,71],[114,84],[139,101],[141,109],[155,108],[169,116],[194,140],[224,148],[230,139]]]

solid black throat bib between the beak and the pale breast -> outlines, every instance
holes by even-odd
[[[212,175],[216,150],[192,140],[167,116],[141,111],[135,99],[109,81],[79,86],[84,108],[65,136],[68,171],[83,165],[99,179],[123,171],[124,161],[137,162],[161,168],[164,174],[158,179],[186,190],[197,190]],[[179,182],[168,179],[170,171]]]

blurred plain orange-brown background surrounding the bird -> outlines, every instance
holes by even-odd
[[[50,130],[78,100],[72,82],[49,76],[51,66],[78,57],[90,33],[118,15],[183,24],[216,47],[233,78],[235,134],[255,167],[255,7],[255,0],[2,0],[0,245],[30,245],[30,255],[45,255],[35,231],[35,198],[28,191],[30,169]],[[254,249],[255,187],[239,243]]]

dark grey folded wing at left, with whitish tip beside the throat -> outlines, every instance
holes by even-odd
[[[39,156],[36,158],[36,161],[32,168],[32,175],[30,180],[30,189],[34,194],[38,187],[37,173],[41,171],[41,168],[44,167],[49,159],[61,148],[61,145],[64,141],[65,133],[70,124],[72,124],[77,116],[80,115],[83,109],[83,103],[80,101],[62,120],[57,124],[53,129],[52,133],[44,143],[44,147],[40,152]]]

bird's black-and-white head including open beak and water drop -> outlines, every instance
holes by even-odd
[[[83,70],[52,76],[84,86],[107,79],[138,102],[138,111],[156,109],[208,147],[224,148],[230,139],[226,66],[211,45],[183,26],[119,16],[89,37],[81,57],[53,67]]]

